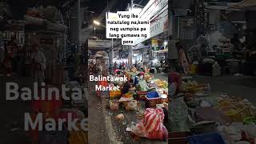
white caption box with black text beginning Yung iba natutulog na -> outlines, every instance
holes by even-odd
[[[138,38],[150,38],[150,20],[138,13],[106,13],[106,38],[122,38],[122,45],[135,45]]]

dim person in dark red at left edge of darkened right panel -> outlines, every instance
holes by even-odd
[[[178,72],[170,72],[168,75],[168,81],[169,81],[169,92],[168,94],[170,97],[173,97],[174,95],[177,95],[180,93],[180,88],[182,85],[182,78]]]

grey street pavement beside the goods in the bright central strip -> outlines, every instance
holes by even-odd
[[[156,74],[155,78],[167,79],[166,74]],[[135,141],[130,133],[126,132],[126,127],[131,122],[137,122],[134,116],[136,111],[109,110],[106,98],[98,98],[94,89],[94,83],[89,86],[89,142],[90,143],[114,143],[114,144],[166,144],[163,141],[154,141],[147,138],[141,138]],[[145,105],[144,103],[142,105]],[[115,119],[117,114],[124,114],[126,121],[118,122]]]

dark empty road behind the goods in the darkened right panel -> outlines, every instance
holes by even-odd
[[[198,83],[210,83],[213,92],[239,96],[248,99],[254,105],[256,104],[256,77],[223,76],[214,78],[194,76],[193,79]]]

